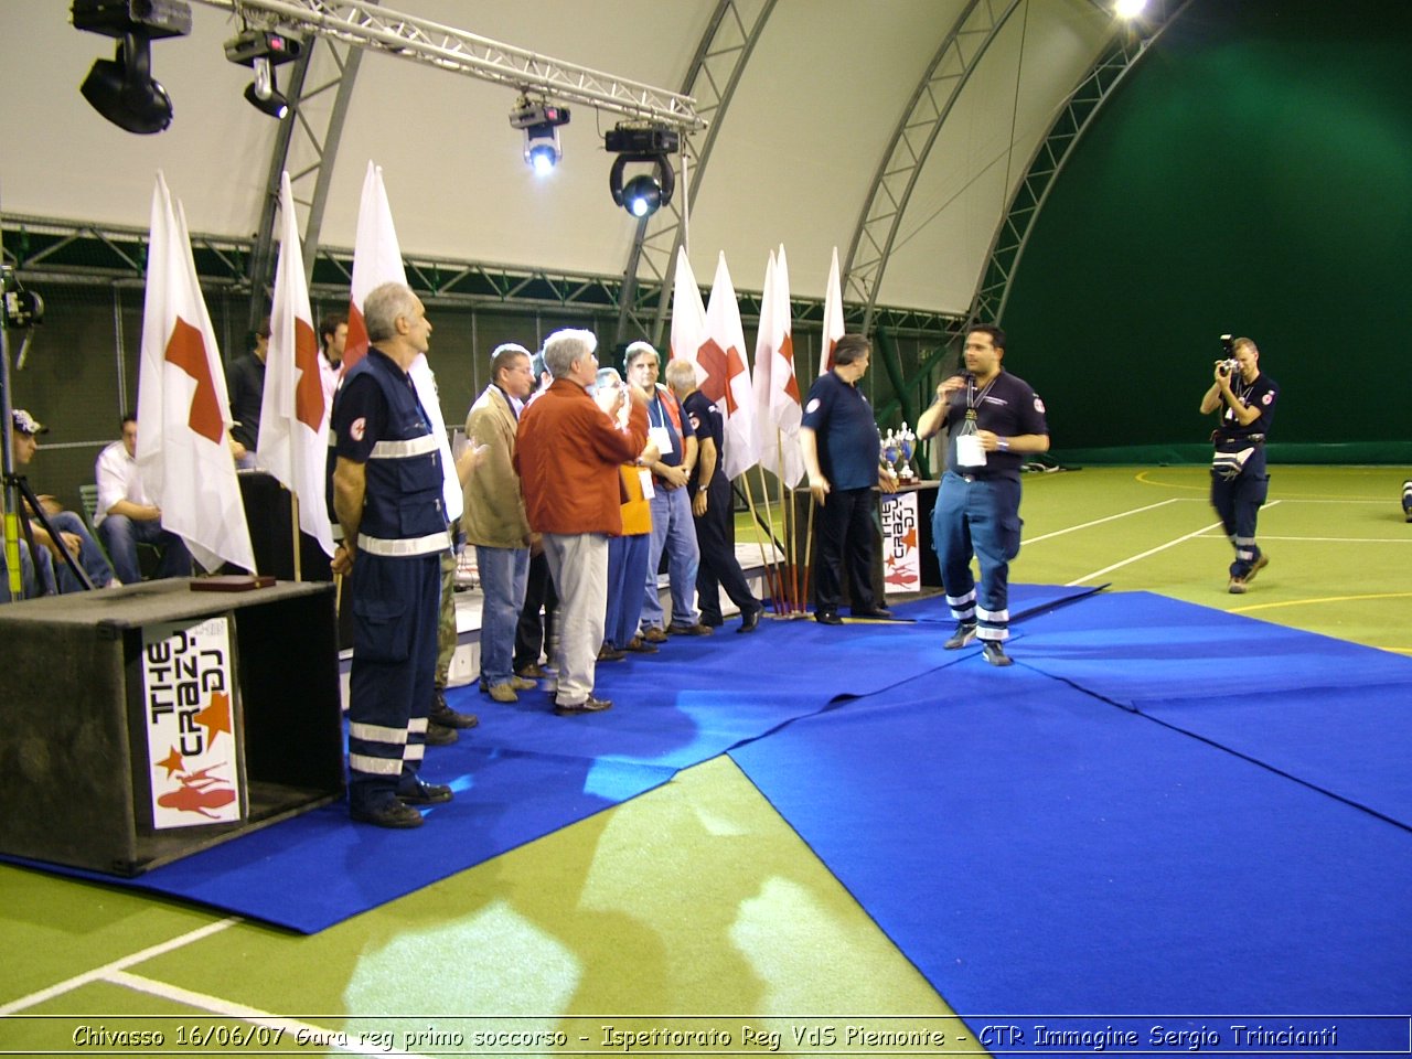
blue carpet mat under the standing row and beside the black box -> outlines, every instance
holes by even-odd
[[[1045,606],[1073,594],[1017,586],[1017,599]],[[332,805],[136,880],[35,867],[315,933],[634,798],[836,698],[955,661],[938,628],[921,623],[765,621],[746,637],[731,627],[600,665],[597,693],[616,705],[593,717],[555,717],[542,692],[500,706],[473,686],[452,689],[448,702],[479,713],[481,727],[428,753],[424,778],[449,784],[456,798],[429,809],[415,832],[354,826]]]

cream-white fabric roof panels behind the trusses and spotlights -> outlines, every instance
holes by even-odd
[[[991,3],[995,10],[1008,4]],[[874,174],[936,49],[973,0],[778,0],[722,117],[689,217],[698,278],[724,251],[760,289],[784,243],[794,294],[822,298]],[[753,17],[762,0],[740,3]],[[395,8],[618,78],[681,90],[716,0],[391,0]],[[249,237],[260,225],[278,123],[241,97],[226,61],[233,16],[192,4],[189,37],[152,45],[175,120],[133,136],[79,95],[113,42],[80,32],[69,4],[11,0],[0,13],[6,150],[0,210],[145,227],[157,169],[192,232]],[[942,126],[908,199],[878,302],[964,312],[1010,188],[1067,93],[1114,32],[1094,0],[1018,0]],[[404,251],[621,275],[634,222],[607,189],[603,131],[618,116],[570,104],[563,161],[538,179],[521,158],[507,86],[385,54],[364,55],[336,155],[322,243],[352,247],[367,161],[383,167]],[[309,102],[311,124],[332,93]],[[292,155],[289,168],[306,160]],[[682,193],[682,189],[678,189]]]

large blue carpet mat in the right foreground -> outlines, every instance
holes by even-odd
[[[969,655],[731,757],[962,1015],[1412,995],[1412,834],[1024,665]]]

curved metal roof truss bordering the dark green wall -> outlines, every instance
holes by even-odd
[[[1029,160],[1025,176],[1015,186],[1005,216],[995,230],[986,270],[971,299],[971,321],[998,321],[1003,316],[1010,298],[1010,284],[1019,268],[1019,258],[1025,253],[1035,219],[1065,162],[1073,154],[1075,145],[1128,71],[1147,55],[1162,31],[1186,10],[1189,3],[1190,0],[1158,0],[1155,10],[1142,16],[1145,24],[1142,32],[1120,27],[1110,47],[1065,100],[1049,133]]]

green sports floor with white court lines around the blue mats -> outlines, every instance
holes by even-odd
[[[1111,582],[1408,655],[1408,477],[1272,467],[1271,563],[1231,596],[1203,467],[1027,476],[1011,576]],[[657,1055],[764,1055],[768,1032],[777,1055],[874,1055],[791,1034],[952,1014],[724,757],[315,936],[0,866],[0,1055],[621,1055],[604,1025],[666,1017],[733,1043]],[[474,1043],[500,1031],[568,1043]],[[119,1043],[144,1032],[162,1042]]]

